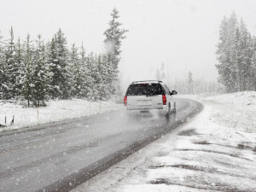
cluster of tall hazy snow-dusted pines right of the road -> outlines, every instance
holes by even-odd
[[[219,81],[227,92],[256,90],[256,38],[235,12],[221,22],[217,55]]]

